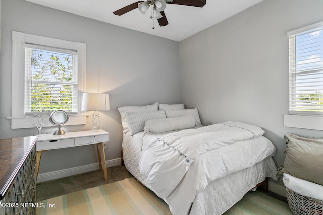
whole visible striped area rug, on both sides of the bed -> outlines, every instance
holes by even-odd
[[[37,214],[171,214],[168,205],[135,178],[38,202]],[[43,205],[43,207],[41,207]],[[249,192],[225,214],[292,214],[288,204]]]

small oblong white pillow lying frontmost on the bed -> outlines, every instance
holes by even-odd
[[[180,116],[174,118],[148,120],[145,123],[143,131],[145,134],[151,134],[193,127],[195,127],[195,118],[193,116]]]

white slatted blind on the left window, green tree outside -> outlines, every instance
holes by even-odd
[[[25,115],[41,108],[77,114],[77,51],[25,44]]]

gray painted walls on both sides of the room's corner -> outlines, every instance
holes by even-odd
[[[13,30],[87,44],[88,92],[110,94],[111,111],[101,112],[102,129],[111,134],[107,160],[120,157],[117,108],[156,101],[197,107],[205,125],[231,120],[261,126],[277,147],[277,166],[284,160],[285,133],[323,136],[283,125],[288,114],[286,32],[323,20],[321,0],[264,0],[180,43],[23,0],[0,1],[1,139],[35,133],[12,130],[6,119],[11,116]],[[151,60],[154,48],[161,60]],[[64,129],[91,129],[90,119],[85,126]],[[40,173],[94,162],[93,147],[53,150],[43,154]]]

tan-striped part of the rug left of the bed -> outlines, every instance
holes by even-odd
[[[168,205],[135,178],[38,202],[39,214],[171,214]],[[51,207],[55,205],[55,207]]]

